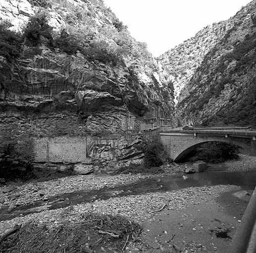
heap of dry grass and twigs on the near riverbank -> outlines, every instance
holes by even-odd
[[[115,238],[109,234],[119,235]],[[25,224],[16,234],[5,239],[1,253],[97,253],[122,252],[130,240],[137,240],[142,228],[121,215],[88,213],[77,224],[68,222],[49,229],[36,222]]]

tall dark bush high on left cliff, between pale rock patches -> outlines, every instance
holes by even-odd
[[[23,31],[27,45],[37,46],[41,42],[41,36],[52,44],[52,27],[48,25],[48,15],[45,12],[32,16]]]

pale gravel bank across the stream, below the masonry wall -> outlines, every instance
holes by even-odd
[[[183,171],[183,165],[162,166],[165,176],[169,173]],[[0,187],[0,209],[23,205],[31,205],[36,201],[47,200],[49,197],[83,190],[100,190],[104,187],[114,187],[136,183],[141,179],[152,178],[155,174],[118,174],[118,175],[76,175],[53,179],[46,182],[24,183],[20,186]]]

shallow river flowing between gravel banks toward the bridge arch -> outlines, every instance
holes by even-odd
[[[54,210],[67,206],[93,202],[99,199],[109,199],[116,196],[138,195],[156,191],[173,191],[192,186],[212,186],[218,184],[234,184],[241,186],[242,190],[254,190],[256,186],[256,171],[231,172],[231,171],[205,171],[201,173],[172,174],[165,177],[142,179],[136,183],[113,188],[102,188],[93,191],[78,191],[54,196],[49,201],[38,201],[34,205],[17,207],[13,211],[0,210],[0,220],[12,219],[20,214],[40,212],[42,210]]]

